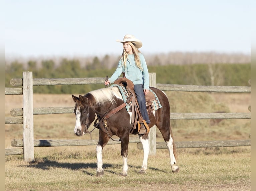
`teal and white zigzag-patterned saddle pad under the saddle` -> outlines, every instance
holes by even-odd
[[[125,102],[127,97],[128,97],[128,93],[127,93],[125,87],[120,86],[118,84],[113,84],[113,85],[110,86],[110,88],[114,87],[114,86],[119,88],[119,91],[120,91],[120,93],[121,93],[121,95],[123,97],[123,100]],[[149,91],[152,92],[154,94],[154,96],[155,96],[155,99],[153,101],[151,101],[151,104],[152,104],[152,111],[156,111],[157,109],[160,109],[162,107],[162,105],[161,105],[157,95],[151,89],[149,89]],[[130,107],[131,106],[132,106],[131,102],[129,104],[126,103],[126,110],[130,111]]]

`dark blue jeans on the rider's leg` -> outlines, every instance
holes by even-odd
[[[145,94],[144,94],[142,84],[134,85],[133,90],[137,97],[141,115],[142,115],[143,119],[145,119],[146,123],[148,124],[148,123],[150,123],[150,120],[149,120],[148,113],[147,113]]]

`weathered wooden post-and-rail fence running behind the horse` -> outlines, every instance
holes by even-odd
[[[149,73],[150,86],[162,91],[184,91],[184,92],[251,92],[251,87],[245,86],[194,86],[156,84],[156,74]],[[5,95],[23,95],[23,108],[11,109],[11,115],[5,119],[5,124],[23,124],[23,139],[13,139],[12,149],[5,149],[5,155],[23,154],[24,161],[34,160],[35,146],[78,146],[97,145],[98,140],[34,140],[33,137],[33,115],[73,113],[73,107],[41,107],[33,108],[33,86],[46,85],[84,85],[103,84],[104,78],[63,78],[63,79],[33,79],[32,72],[23,72],[22,79],[11,79],[12,86],[22,88],[5,88]],[[170,113],[170,119],[250,119],[251,113]],[[165,143],[156,142],[156,127],[149,132],[150,154],[155,154],[156,149],[167,148]],[[138,143],[137,147],[142,149],[139,138],[130,138],[130,143]],[[110,140],[108,144],[120,144]],[[198,147],[226,147],[226,146],[250,146],[250,140],[227,140],[227,141],[185,141],[175,142],[177,148]],[[23,148],[21,148],[23,147]]]

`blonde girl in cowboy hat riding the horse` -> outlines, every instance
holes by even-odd
[[[134,84],[134,92],[137,97],[141,115],[148,124],[150,120],[147,114],[145,95],[149,91],[149,74],[145,58],[138,50],[142,47],[142,42],[133,35],[125,35],[123,41],[118,40],[117,42],[123,43],[123,53],[118,62],[116,71],[104,84],[107,86],[113,83],[122,72],[125,72],[126,78],[131,80]],[[139,134],[145,133],[146,128],[144,124],[141,123]]]

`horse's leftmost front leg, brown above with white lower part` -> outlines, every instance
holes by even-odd
[[[108,143],[109,137],[106,133],[102,132],[102,130],[99,131],[99,143],[96,146],[96,152],[97,152],[97,176],[103,176],[104,170],[103,170],[103,162],[102,162],[102,150],[104,146]]]

